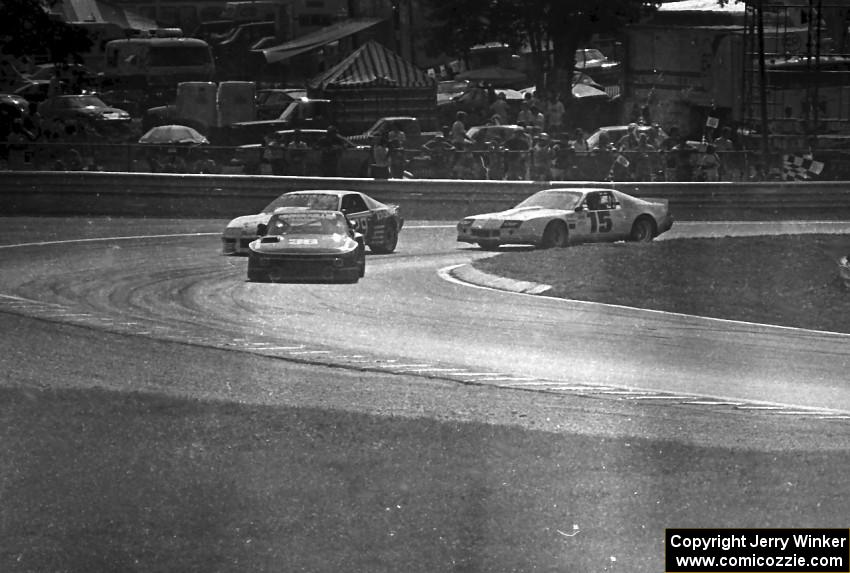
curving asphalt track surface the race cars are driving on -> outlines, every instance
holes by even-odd
[[[95,222],[83,232],[79,222],[52,221],[41,243],[25,244],[31,233],[0,237],[0,310],[472,384],[850,414],[850,336],[471,288],[440,273],[486,256],[458,246],[450,224],[410,223],[398,251],[370,255],[356,285],[248,283],[246,259],[218,254],[212,229],[223,222],[158,224],[98,230]]]

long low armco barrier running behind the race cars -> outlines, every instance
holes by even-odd
[[[850,183],[587,183],[297,178],[100,172],[0,172],[0,215],[222,218],[296,189],[350,189],[404,216],[454,220],[500,210],[547,187],[614,187],[667,199],[677,220],[850,220]]]

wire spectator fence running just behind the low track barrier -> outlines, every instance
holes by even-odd
[[[0,168],[43,171],[110,171],[132,173],[278,174],[369,177],[368,147],[342,152],[335,171],[324,172],[321,151],[309,149],[300,161],[284,155],[275,163],[261,145],[242,147],[155,146],[97,141],[0,144]],[[419,179],[576,180],[576,181],[770,181],[786,177],[821,181],[850,180],[849,150],[820,150],[819,170],[798,155],[801,165],[783,163],[772,154],[728,151],[716,154],[684,152],[574,152],[562,149],[545,156],[535,150],[468,149],[443,155],[407,149],[394,176]],[[392,158],[391,158],[392,159]]]

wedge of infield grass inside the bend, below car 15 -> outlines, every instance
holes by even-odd
[[[844,235],[779,235],[505,251],[474,266],[550,296],[850,333],[848,252]]]

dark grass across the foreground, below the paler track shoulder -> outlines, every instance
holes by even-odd
[[[0,435],[9,573],[649,572],[665,527],[839,527],[850,511],[847,450],[100,390],[0,389]]]

